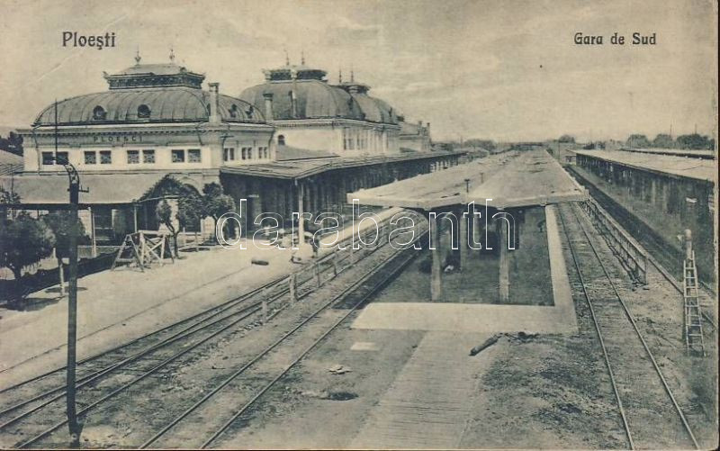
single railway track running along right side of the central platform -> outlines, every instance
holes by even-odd
[[[605,259],[575,204],[558,209],[563,230],[598,334],[628,447],[699,449],[653,352],[638,329]],[[566,221],[566,215],[570,221]]]

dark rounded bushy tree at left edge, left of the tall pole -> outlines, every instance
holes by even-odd
[[[0,266],[10,269],[19,281],[24,266],[38,263],[52,253],[52,230],[25,212],[0,221]]]

